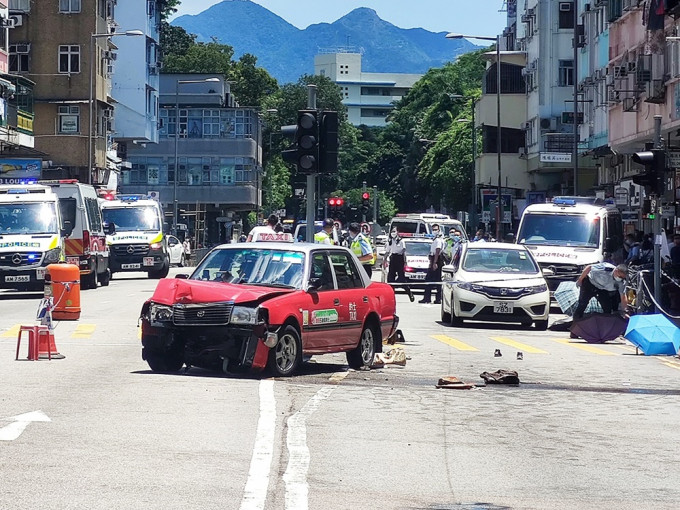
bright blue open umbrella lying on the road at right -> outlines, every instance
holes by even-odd
[[[647,356],[674,355],[680,349],[680,328],[660,313],[633,315],[623,336]]]

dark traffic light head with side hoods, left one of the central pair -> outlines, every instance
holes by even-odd
[[[283,160],[296,165],[301,173],[317,173],[319,171],[319,123],[316,110],[299,110],[297,124],[282,126],[281,133],[293,138],[293,144],[281,152]]]

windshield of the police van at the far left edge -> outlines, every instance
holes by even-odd
[[[53,202],[0,204],[0,234],[56,234]]]

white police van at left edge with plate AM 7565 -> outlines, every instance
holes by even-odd
[[[44,288],[46,267],[64,260],[62,225],[49,186],[0,185],[0,288]]]

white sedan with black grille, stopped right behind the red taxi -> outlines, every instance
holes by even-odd
[[[464,243],[458,264],[444,266],[442,272],[442,322],[519,322],[547,329],[550,291],[526,247]]]

